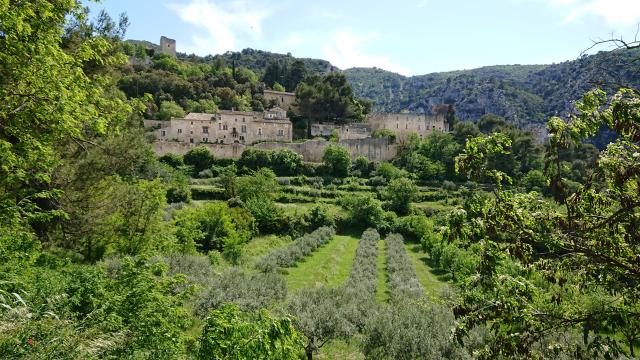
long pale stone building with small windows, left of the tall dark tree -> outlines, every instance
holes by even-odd
[[[189,113],[183,119],[145,120],[154,127],[158,141],[190,144],[254,144],[290,142],[292,124],[287,112],[273,108],[264,112],[219,110],[215,114]]]

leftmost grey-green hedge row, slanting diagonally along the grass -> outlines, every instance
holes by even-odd
[[[287,268],[295,265],[300,259],[308,256],[317,248],[327,243],[336,231],[327,226],[316,229],[306,234],[284,249],[277,249],[262,257],[256,263],[256,268],[263,272],[277,268]]]

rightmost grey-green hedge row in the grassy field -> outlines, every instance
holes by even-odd
[[[424,288],[420,284],[404,248],[402,235],[389,234],[385,241],[387,243],[387,274],[391,300],[402,301],[405,298],[424,295]]]

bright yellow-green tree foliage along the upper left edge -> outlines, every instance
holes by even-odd
[[[62,48],[63,25],[81,9],[70,0],[0,3],[0,233],[22,237],[27,222],[61,216],[46,205],[60,195],[50,186],[57,142],[104,134],[137,107],[109,96],[113,82],[98,73],[97,64],[126,61],[111,41],[87,31],[87,41]]]

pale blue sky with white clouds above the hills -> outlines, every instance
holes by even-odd
[[[180,52],[247,47],[403,75],[577,58],[595,40],[633,39],[640,0],[105,0],[127,38]],[[601,46],[598,50],[606,50]]]

